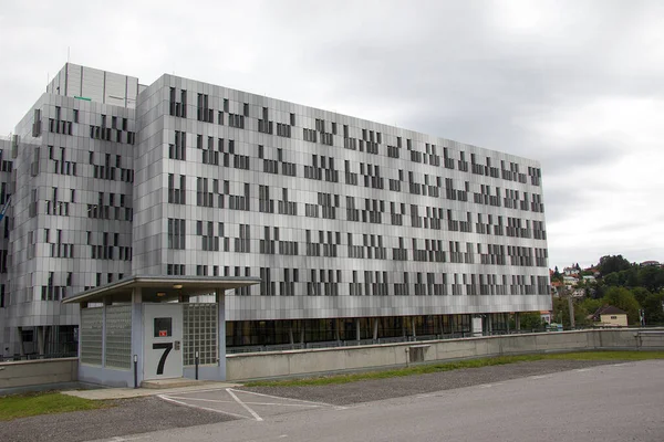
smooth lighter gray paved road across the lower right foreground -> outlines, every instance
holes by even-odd
[[[345,408],[268,413],[261,420],[249,417],[127,440],[661,442],[663,410],[664,360],[649,360]]]

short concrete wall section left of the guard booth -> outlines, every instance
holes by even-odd
[[[73,382],[77,370],[79,358],[0,362],[0,389]]]

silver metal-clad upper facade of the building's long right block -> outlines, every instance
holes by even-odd
[[[134,273],[248,270],[229,320],[550,306],[536,161],[172,75],[137,125]]]

